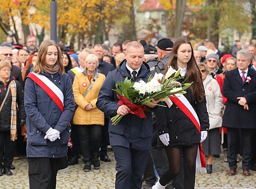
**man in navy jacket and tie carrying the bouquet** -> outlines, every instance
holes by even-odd
[[[139,118],[130,113],[126,105],[118,105],[119,99],[112,90],[117,81],[126,77],[133,81],[144,80],[152,74],[149,66],[143,62],[144,48],[139,42],[130,42],[125,52],[126,60],[119,67],[110,71],[101,87],[96,106],[110,118],[117,114],[124,117],[115,126],[109,123],[110,146],[112,146],[116,170],[116,189],[141,189],[142,175],[146,167],[148,151],[151,149],[152,116],[145,112],[146,118]],[[152,100],[152,103],[158,101]],[[161,110],[160,107],[149,105],[152,112]]]

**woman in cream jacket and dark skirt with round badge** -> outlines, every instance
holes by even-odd
[[[220,140],[219,140],[219,127],[221,127],[221,109],[222,96],[218,82],[209,74],[205,64],[198,65],[203,80],[203,86],[206,96],[206,107],[209,114],[210,128],[208,137],[202,142],[202,148],[205,155],[208,155],[206,163],[207,173],[212,173],[212,158],[214,154],[220,154]]]

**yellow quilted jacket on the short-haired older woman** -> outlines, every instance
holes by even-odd
[[[84,72],[84,71],[83,71]],[[78,73],[74,77],[73,82],[73,93],[74,93],[74,101],[78,105],[74,117],[73,124],[75,125],[104,125],[104,113],[101,112],[96,107],[97,98],[99,95],[99,91],[103,82],[105,80],[105,76],[103,74],[98,75],[95,80],[91,90],[88,94],[83,97],[84,92],[90,86],[89,78],[83,73]],[[91,78],[91,81],[93,77]],[[93,109],[90,111],[86,111],[85,107],[91,103]]]

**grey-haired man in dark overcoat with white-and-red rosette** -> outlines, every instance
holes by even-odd
[[[228,99],[222,126],[228,128],[228,175],[236,174],[237,136],[242,142],[242,168],[245,176],[250,176],[251,142],[256,129],[256,72],[249,69],[251,55],[247,50],[237,52],[237,69],[225,74],[223,95]]]

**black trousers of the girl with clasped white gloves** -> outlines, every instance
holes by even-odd
[[[56,176],[64,158],[27,158],[29,189],[55,189]],[[67,161],[67,160],[66,160]],[[67,165],[66,165],[67,166]]]

